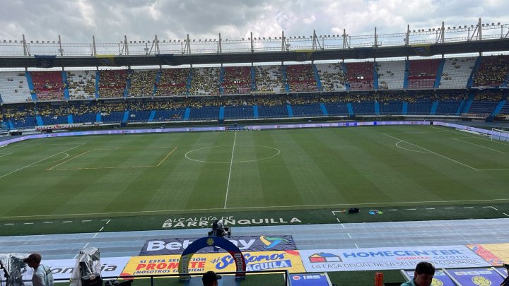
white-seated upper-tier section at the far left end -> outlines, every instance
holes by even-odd
[[[25,72],[0,73],[0,97],[6,103],[31,101]]]

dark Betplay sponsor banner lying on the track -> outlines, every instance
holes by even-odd
[[[197,238],[150,239],[145,242],[139,256],[182,254],[187,246],[195,240]],[[235,244],[241,251],[296,250],[296,245],[291,235],[230,237],[227,240]],[[197,254],[216,253],[218,251],[226,252],[224,249],[207,247],[197,251]]]

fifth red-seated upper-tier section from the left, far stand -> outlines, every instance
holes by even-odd
[[[292,93],[317,91],[317,81],[310,64],[286,66],[286,81]]]

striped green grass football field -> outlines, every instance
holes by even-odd
[[[176,213],[305,210],[312,223],[351,205],[505,205],[509,143],[435,126],[43,138],[0,148],[0,190],[4,225],[41,225],[4,234],[69,232],[74,218],[154,229]]]

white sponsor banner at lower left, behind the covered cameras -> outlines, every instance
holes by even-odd
[[[119,277],[131,257],[108,257],[101,258],[101,274],[103,277]],[[55,280],[69,280],[76,265],[76,259],[43,260],[42,264],[49,266]],[[0,271],[0,278],[4,279],[3,271]],[[31,281],[33,268],[25,268],[23,280]]]

